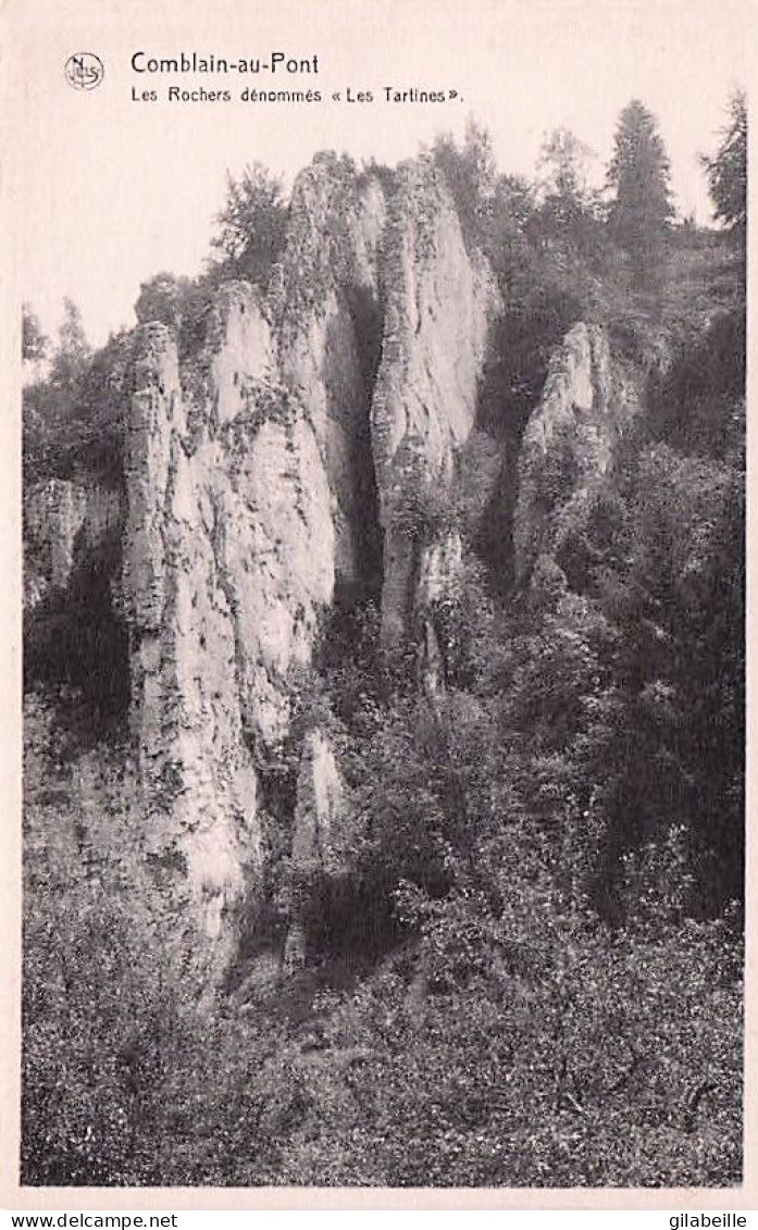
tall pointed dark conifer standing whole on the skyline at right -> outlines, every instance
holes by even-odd
[[[624,108],[607,183],[615,189],[610,229],[639,280],[655,280],[666,228],[673,218],[669,164],[655,116],[637,98]]]

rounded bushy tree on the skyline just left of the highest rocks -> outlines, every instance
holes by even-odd
[[[226,203],[215,218],[212,246],[224,273],[265,287],[282,248],[287,205],[282,181],[261,162],[246,166],[239,180],[226,176]]]

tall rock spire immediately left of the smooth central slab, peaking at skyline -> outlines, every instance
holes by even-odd
[[[385,218],[377,180],[361,184],[332,159],[316,160],[295,182],[288,241],[269,294],[282,379],[299,391],[324,458],[335,572],[347,584],[361,579],[370,552],[368,432]]]

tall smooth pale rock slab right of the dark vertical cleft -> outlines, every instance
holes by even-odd
[[[426,161],[401,171],[385,241],[386,317],[372,406],[384,529],[381,626],[409,626],[427,547],[409,541],[409,497],[450,483],[474,427],[487,337],[500,301],[486,262],[466,252],[450,196]],[[444,549],[450,562],[454,550]]]

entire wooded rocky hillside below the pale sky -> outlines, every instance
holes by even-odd
[[[26,389],[27,1183],[740,1180],[743,247],[485,155]]]

